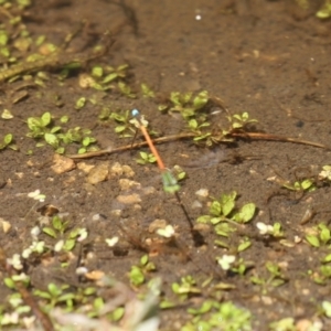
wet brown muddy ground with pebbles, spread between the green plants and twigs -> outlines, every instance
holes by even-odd
[[[324,223],[328,228],[330,223],[330,184],[319,175],[323,166],[331,164],[327,149],[252,139],[220,143],[212,150],[190,140],[158,145],[167,167],[179,164],[186,172],[179,195],[194,224],[199,216],[209,213],[211,196],[220,197],[222,193],[236,191],[238,207],[248,202],[257,207],[254,218],[236,225],[228,238],[215,235],[213,225],[206,224],[201,229],[204,243],[195,245],[180,204],[174,195],[162,190],[158,168],[138,164],[137,149],[74,160],[73,169],[56,173],[52,168],[54,148],[35,147],[36,140],[26,137],[28,118],[50,111],[56,125],[62,116],[70,117],[67,124],[60,124],[66,129],[90,129],[100,149],[130,145],[132,138],[119,138],[114,131],[115,121],[99,119],[105,107],[118,113],[138,108],[159,136],[175,135],[184,131],[182,119],[159,111],[158,105],[171,92],[207,90],[214,100],[216,97],[222,100],[211,103],[207,109],[213,126],[226,124],[227,110],[229,114],[247,111],[258,120],[250,127],[254,131],[331,146],[331,30],[330,21],[314,17],[318,8],[319,3],[303,10],[296,2],[263,0],[118,3],[61,0],[33,1],[18,12],[2,9],[3,26],[8,13],[20,13],[20,24],[24,24],[33,41],[45,35],[47,42],[60,46],[68,33],[78,30],[56,63],[22,71],[13,82],[8,82],[11,77],[1,79],[0,110],[10,110],[13,118],[0,119],[0,137],[12,134],[19,147],[19,151],[6,148],[0,152],[0,217],[2,224],[10,224],[9,229],[0,231],[2,249],[8,257],[21,254],[32,242],[30,232],[34,226],[51,226],[52,217],[44,215],[46,209],[42,209],[47,204],[58,210],[71,229],[78,226],[88,232],[88,237],[77,243],[70,257],[50,248],[56,241],[41,234],[50,249],[24,261],[23,270],[31,277],[29,290],[46,289],[50,282],[73,288],[94,285],[94,280],[75,271],[84,259],[89,271],[114,276],[134,295],[145,293],[146,284],[160,277],[160,300],[167,298],[174,302],[173,308],[159,311],[160,330],[182,329],[192,320],[188,309],[197,308],[207,299],[232,301],[249,311],[252,328],[242,327],[242,330],[329,330],[331,322],[322,302],[330,300],[331,273],[321,270],[328,266],[321,259],[328,255],[330,243],[319,237],[319,247],[312,247],[306,237],[307,234],[319,236],[314,226]],[[19,28],[12,28],[12,33],[15,29]],[[12,36],[12,42],[15,39],[17,35]],[[103,45],[104,52],[93,58],[96,45]],[[26,49],[13,47],[12,52],[23,60],[35,53],[36,46],[32,43]],[[11,64],[1,58],[4,71]],[[60,79],[63,66],[75,58],[84,58],[84,65]],[[89,75],[96,64],[115,67],[128,64],[124,82],[137,92],[137,97],[126,97],[116,88],[83,88],[82,75]],[[46,73],[43,86],[35,84],[35,72]],[[154,98],[138,93],[142,83],[156,93]],[[22,90],[25,93],[21,97]],[[86,104],[76,109],[81,97],[86,98]],[[213,111],[216,115],[211,115]],[[141,135],[137,139],[143,141]],[[78,145],[71,143],[64,154],[76,153]],[[148,152],[146,147],[139,150]],[[218,158],[217,164],[213,164],[214,158]],[[116,162],[130,168],[121,173],[122,168],[117,166],[118,173]],[[92,182],[88,166],[95,166],[96,172],[106,169],[106,174],[102,173],[100,181]],[[122,179],[137,183],[126,189]],[[306,179],[313,182],[314,191],[282,186]],[[206,189],[209,196],[199,197],[200,189]],[[46,196],[44,202],[28,196],[35,190]],[[124,202],[121,197],[132,200]],[[312,216],[303,220],[309,212]],[[149,226],[156,220],[166,220],[175,227],[177,244],[159,241],[154,247],[148,246],[152,236]],[[258,222],[271,225],[279,222],[284,236],[260,234]],[[119,248],[107,247],[105,238],[115,236],[119,238]],[[215,245],[215,239],[222,239],[227,247]],[[243,241],[249,241],[250,246],[237,252]],[[130,268],[139,265],[139,258],[146,253],[157,269],[146,273],[145,284],[134,286]],[[241,276],[222,269],[216,258],[225,254],[234,255],[236,260],[243,258],[248,266],[246,273]],[[63,261],[67,263],[65,268],[60,267]],[[279,267],[282,276],[278,278],[284,280],[280,286],[253,284],[253,276],[269,277],[267,261]],[[7,274],[2,268],[1,279]],[[189,291],[188,297],[180,298],[172,292],[171,285],[186,275],[196,279],[200,292]],[[211,276],[211,284],[201,287]],[[222,286],[216,290],[221,282],[226,284],[226,290]],[[2,311],[12,309],[6,306],[10,293],[12,290],[1,281],[0,298],[6,307]],[[114,299],[110,290],[99,290],[98,295],[105,301]],[[292,318],[293,329],[271,329],[270,323],[284,318]],[[183,330],[197,330],[193,324]],[[309,329],[312,325],[316,329]],[[215,327],[215,330],[239,330],[227,328]]]

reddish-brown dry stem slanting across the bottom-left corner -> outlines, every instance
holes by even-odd
[[[12,277],[15,275],[13,268],[7,264],[7,256],[4,250],[0,247],[0,267],[3,268],[7,274]],[[34,298],[31,293],[26,290],[25,286],[21,281],[15,281],[15,288],[18,292],[21,295],[23,301],[31,308],[33,314],[40,320],[43,329],[45,331],[53,331],[55,330],[53,323],[47,314],[45,314],[38,303],[35,302]]]

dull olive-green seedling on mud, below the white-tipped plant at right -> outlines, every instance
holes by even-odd
[[[267,261],[266,269],[268,276],[266,278],[252,276],[249,279],[253,284],[261,287],[263,295],[266,295],[270,289],[279,287],[287,281],[287,278],[281,274],[281,270],[277,264]]]

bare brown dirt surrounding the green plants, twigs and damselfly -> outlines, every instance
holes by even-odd
[[[132,10],[127,13],[115,1],[34,2],[24,18],[25,24],[32,35],[45,34],[54,43],[61,44],[82,20],[88,21],[87,28],[73,40],[64,56],[70,52],[90,54],[95,44],[107,42],[109,36],[106,31],[113,33],[114,43],[105,56],[90,61],[65,79],[63,86],[58,84],[55,71],[45,88],[28,88],[29,96],[17,104],[11,103],[11,92],[21,82],[2,83],[1,108],[10,108],[14,118],[0,120],[0,136],[13,134],[20,147],[19,152],[6,149],[0,153],[0,217],[12,226],[7,234],[0,232],[1,246],[7,255],[26,247],[31,241],[30,231],[39,224],[41,216],[36,210],[51,203],[66,215],[71,226],[86,227],[92,244],[119,234],[126,246],[126,256],[114,256],[110,249],[93,250],[88,268],[110,273],[128,284],[130,266],[137,265],[142,254],[131,245],[132,237],[142,239],[148,235],[152,221],[164,218],[178,226],[179,239],[190,252],[189,260],[167,250],[151,257],[158,267],[158,275],[162,277],[164,290],[183,275],[202,279],[206,276],[205,271],[209,274],[212,270],[218,281],[235,285],[236,288],[225,292],[223,298],[249,309],[254,316],[254,330],[267,330],[268,323],[285,317],[312,319],[318,305],[329,295],[325,287],[314,284],[307,276],[308,269],[313,270],[318,266],[320,253],[305,243],[289,248],[277,241],[261,239],[255,224],[280,222],[286,238],[293,241],[295,236],[305,237],[305,226],[300,225],[300,220],[308,207],[317,212],[309,221],[309,227],[321,221],[329,223],[328,184],[298,199],[298,194],[267,180],[275,175],[291,182],[300,178],[317,178],[321,167],[331,163],[329,151],[290,142],[241,140],[217,149],[224,149],[226,154],[244,157],[243,162],[184,168],[188,179],[182,183],[180,195],[192,218],[207,212],[205,203],[203,209],[192,207],[196,200],[195,192],[201,188],[207,189],[212,196],[235,190],[239,193],[238,205],[246,202],[257,205],[258,213],[253,222],[232,241],[237,245],[241,238],[250,237],[252,247],[241,254],[254,264],[248,274],[261,269],[266,260],[286,265],[285,274],[289,281],[273,289],[268,293],[270,301],[264,301],[248,277],[225,275],[216,265],[211,268],[213,256],[221,256],[226,250],[214,248],[215,238],[211,229],[204,233],[206,253],[194,247],[177,200],[162,191],[156,167],[136,163],[137,152],[84,160],[95,166],[105,161],[110,166],[115,162],[128,164],[135,172],[132,180],[142,188],[154,188],[153,194],[141,195],[139,207],[125,207],[116,199],[120,194],[118,180],[126,177],[113,177],[93,186],[86,183],[86,174],[77,168],[63,174],[54,173],[51,169],[53,149],[35,148],[35,141],[25,137],[28,127],[24,120],[41,116],[44,111],[51,111],[54,118],[68,115],[71,127],[93,129],[93,136],[98,138],[102,148],[109,142],[113,146],[129,143],[130,139],[117,138],[111,125],[98,124],[100,107],[88,103],[79,111],[74,109],[75,102],[83,95],[102,96],[93,89],[83,90],[78,86],[78,74],[89,72],[95,63],[128,63],[128,82],[134,88],[147,83],[161,97],[171,90],[206,89],[210,95],[222,98],[232,114],[248,111],[252,118],[258,119],[256,127],[259,130],[331,145],[330,22],[321,22],[311,12],[301,11],[287,1],[226,1],[226,4],[221,4],[223,1],[127,0],[128,8]],[[201,14],[201,20],[196,20],[196,14]],[[54,95],[61,96],[61,107],[52,102]],[[141,109],[152,127],[162,135],[177,131],[175,120],[161,115],[154,102],[128,99],[116,92],[107,92],[102,97],[104,104],[115,108]],[[33,149],[33,154],[26,156],[30,149]],[[159,151],[169,167],[199,160],[210,152],[188,141],[160,145]],[[46,200],[34,205],[25,193],[36,189],[46,195]],[[117,207],[124,209],[120,216],[114,216],[113,211]],[[96,220],[95,215],[102,216]],[[119,229],[118,223],[128,233]],[[201,254],[211,258],[201,258]],[[26,271],[32,277],[32,285],[38,288],[44,288],[51,281],[77,281],[74,269],[68,275],[56,266],[51,268],[36,264],[28,266]],[[169,290],[166,292],[171,296]],[[1,285],[0,297],[4,298],[8,293],[9,290]],[[186,307],[162,311],[161,328],[180,329],[190,319],[185,310]],[[324,319],[323,323],[323,330],[329,330],[330,321]]]

